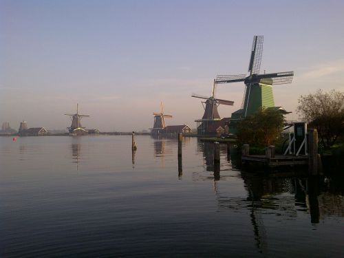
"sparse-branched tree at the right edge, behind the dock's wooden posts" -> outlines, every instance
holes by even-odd
[[[300,96],[297,113],[319,134],[319,143],[329,149],[344,133],[344,94],[332,89]]]

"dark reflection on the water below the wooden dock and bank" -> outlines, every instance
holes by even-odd
[[[244,172],[241,177],[245,183],[247,197],[226,197],[215,188],[217,205],[219,208],[230,208],[237,212],[250,211],[252,230],[259,252],[265,252],[267,246],[264,214],[296,219],[298,212],[305,212],[310,214],[312,224],[319,223],[319,219],[328,216],[344,217],[344,197],[327,191],[331,186],[326,178],[277,178]],[[344,184],[340,185],[340,189],[335,189],[335,193],[343,191]]]

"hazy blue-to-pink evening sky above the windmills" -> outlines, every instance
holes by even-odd
[[[100,131],[202,118],[217,74],[246,74],[252,39],[264,36],[261,72],[294,71],[275,85],[275,105],[292,111],[316,89],[344,92],[344,1],[4,1],[0,0],[0,123],[66,129],[76,103],[82,125]],[[230,117],[244,83],[222,84]]]

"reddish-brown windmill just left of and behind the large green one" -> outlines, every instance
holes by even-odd
[[[233,101],[215,98],[215,91],[216,83],[214,80],[213,92],[210,97],[199,94],[191,95],[193,98],[206,99],[205,101],[202,101],[202,105],[204,107],[204,115],[202,119],[195,120],[195,122],[197,122],[197,134],[215,134],[217,127],[219,127],[219,121],[221,120],[217,107],[220,104],[233,106]]]

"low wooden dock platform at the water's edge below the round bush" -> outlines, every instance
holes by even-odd
[[[308,155],[275,155],[274,158],[266,158],[266,155],[243,155],[242,162],[259,162],[267,166],[292,166],[307,165]]]

